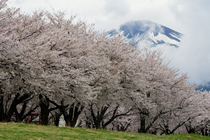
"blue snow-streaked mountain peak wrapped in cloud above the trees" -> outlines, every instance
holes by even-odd
[[[137,45],[137,47],[156,47],[162,44],[179,47],[183,36],[177,31],[148,20],[126,22],[119,29],[108,31],[107,34],[110,36],[123,34],[126,42]]]

